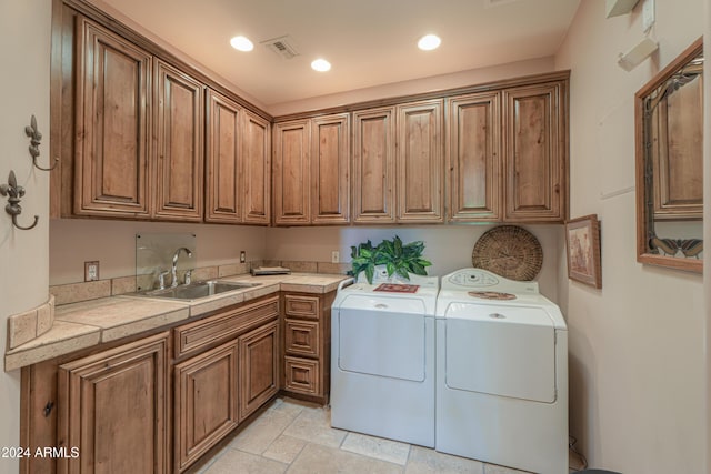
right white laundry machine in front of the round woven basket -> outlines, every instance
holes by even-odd
[[[568,473],[568,331],[538,283],[480,269],[442,276],[435,448]]]

